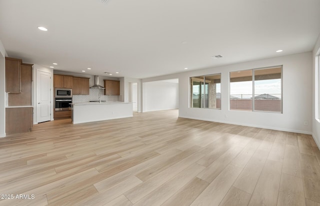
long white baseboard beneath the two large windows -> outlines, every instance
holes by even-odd
[[[240,123],[237,123],[237,122],[228,122],[228,121],[212,120],[212,119],[196,118],[196,117],[188,117],[188,116],[181,116],[181,115],[179,115],[179,117],[187,118],[187,119],[203,120],[203,121],[209,121],[209,122],[219,122],[219,123],[224,123],[224,124],[241,125],[241,126],[246,126],[246,127],[257,127],[257,128],[262,128],[262,129],[278,130],[278,131],[284,131],[284,132],[294,132],[294,133],[300,133],[300,134],[306,134],[306,135],[311,135],[312,134],[311,132],[303,131],[303,130],[291,130],[291,129],[278,128],[278,127],[267,127],[267,126],[261,126],[261,125],[240,124]]]

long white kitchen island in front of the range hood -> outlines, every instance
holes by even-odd
[[[71,103],[71,110],[73,124],[133,116],[131,102]]]

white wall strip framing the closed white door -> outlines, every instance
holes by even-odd
[[[36,105],[34,102],[36,102],[36,73],[37,71],[43,71],[51,74],[51,121],[53,120],[53,104],[54,104],[54,99],[53,99],[53,69],[52,68],[47,68],[38,64],[33,64],[33,81],[32,81],[32,106],[33,106],[33,124],[37,124],[36,120]]]

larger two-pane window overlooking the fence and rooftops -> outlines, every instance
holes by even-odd
[[[282,112],[282,66],[230,72],[230,110]]]

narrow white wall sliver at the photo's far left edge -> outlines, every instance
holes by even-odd
[[[0,40],[0,137],[5,137],[5,49]]]

